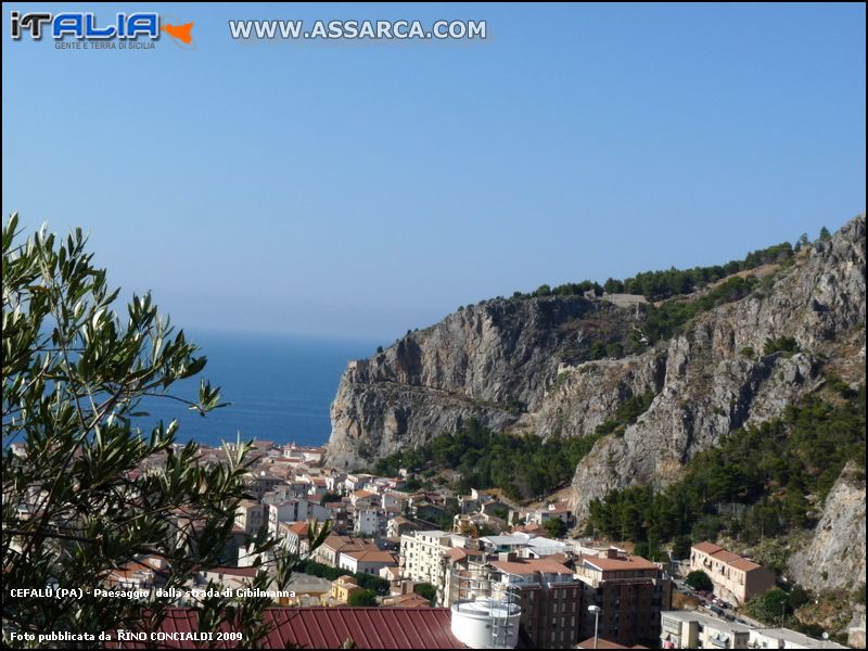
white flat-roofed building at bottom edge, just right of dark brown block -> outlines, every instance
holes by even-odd
[[[746,649],[751,628],[695,611],[660,614],[663,649]]]

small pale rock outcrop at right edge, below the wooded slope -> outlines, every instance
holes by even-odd
[[[790,557],[792,578],[814,591],[865,583],[865,471],[850,464],[826,498],[814,536]],[[864,627],[864,623],[863,623]]]

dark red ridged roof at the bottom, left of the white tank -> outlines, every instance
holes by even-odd
[[[464,649],[450,630],[446,608],[275,608],[265,613],[270,633],[263,649],[340,649],[353,640],[358,649]],[[161,626],[163,633],[199,630],[196,613],[169,609]],[[220,630],[232,628],[222,624]],[[149,642],[113,641],[112,649],[144,649]],[[216,642],[218,649],[237,642]],[[157,648],[193,649],[195,642],[168,640]]]

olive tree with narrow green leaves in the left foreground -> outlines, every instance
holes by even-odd
[[[3,583],[82,590],[4,595],[4,643],[12,631],[153,629],[169,597],[97,597],[93,588],[150,557],[162,564],[163,587],[183,589],[195,571],[225,564],[245,497],[250,444],[227,447],[222,463],[206,467],[196,444],[176,444],[176,421],[142,430],[145,398],[179,400],[203,416],[224,403],[205,381],[196,401],[169,393],[202,371],[205,357],[150,294],[133,295],[123,318],[113,311],[118,290],[86,244],[80,229],[61,240],[43,228],[23,240],[16,216],[3,225]],[[282,589],[297,559],[279,553],[265,531],[251,542],[276,561],[266,569],[257,559],[250,587]],[[207,597],[196,607],[203,630],[230,620],[255,646],[269,603]]]

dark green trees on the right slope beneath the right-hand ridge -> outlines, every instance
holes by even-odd
[[[821,503],[847,462],[865,468],[864,385],[808,395],[781,418],[737,430],[665,489],[611,492],[591,502],[588,528],[652,545],[722,533],[754,544],[812,526],[818,513],[808,496]]]

